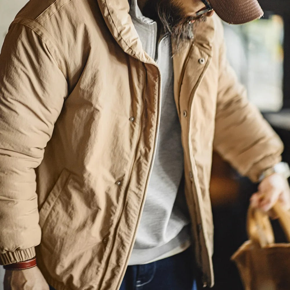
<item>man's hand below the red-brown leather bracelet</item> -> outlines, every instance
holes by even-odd
[[[4,290],[49,290],[49,286],[39,268],[6,270]]]

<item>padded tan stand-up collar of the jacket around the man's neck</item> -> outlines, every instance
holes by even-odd
[[[124,52],[143,62],[153,63],[154,61],[142,48],[141,40],[129,14],[130,5],[128,0],[97,1],[110,32]],[[206,22],[198,23],[194,38],[194,43],[209,55],[211,55],[215,32],[214,17],[208,18]]]

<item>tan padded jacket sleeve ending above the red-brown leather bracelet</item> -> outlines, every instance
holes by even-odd
[[[0,264],[34,257],[41,240],[35,168],[68,94],[52,51],[16,23],[0,54]]]

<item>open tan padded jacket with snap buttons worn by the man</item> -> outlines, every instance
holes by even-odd
[[[37,255],[57,290],[116,290],[152,169],[160,71],[128,0],[31,0],[0,55],[0,260]],[[214,16],[174,56],[185,194],[198,265],[213,284],[215,148],[257,181],[282,143],[247,101]]]

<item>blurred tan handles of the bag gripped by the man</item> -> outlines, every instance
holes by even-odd
[[[277,202],[273,206],[273,211],[279,219],[288,242],[290,242],[290,212],[285,211],[280,202]],[[268,215],[251,206],[249,207],[247,216],[247,232],[249,239],[262,248],[275,243],[275,237]]]

